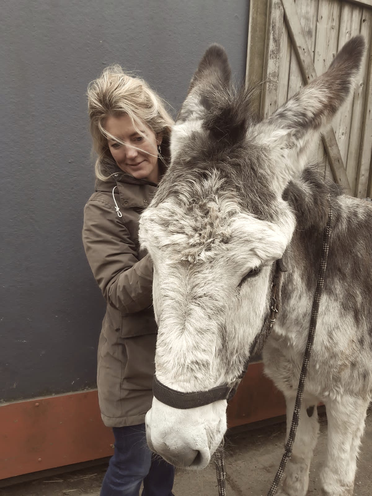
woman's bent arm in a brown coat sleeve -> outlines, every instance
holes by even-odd
[[[110,305],[123,313],[152,305],[151,258],[138,260],[129,231],[111,205],[99,198],[88,201],[82,238],[93,275]]]

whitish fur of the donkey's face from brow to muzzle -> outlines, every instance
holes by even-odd
[[[150,206],[140,221],[140,240],[154,262],[156,375],[184,392],[230,383],[242,372],[267,311],[271,264],[295,224],[290,211],[274,224],[242,213],[227,198],[209,207],[207,219],[192,218],[169,199]],[[226,401],[217,403],[178,410],[154,399],[146,417],[149,445],[173,463],[181,456],[202,468],[226,430]]]

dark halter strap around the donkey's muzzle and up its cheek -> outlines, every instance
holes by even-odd
[[[270,314],[269,318],[266,318],[262,329],[257,334],[249,352],[249,357],[260,353],[267,338],[270,335],[271,328],[276,319],[276,314],[278,312],[277,305],[277,288],[279,286],[280,278],[282,272],[286,272],[287,269],[284,267],[283,260],[280,258],[275,262],[275,273],[271,285],[271,299],[270,299]],[[242,373],[230,384],[223,384],[221,386],[213,387],[208,389],[208,391],[199,391],[192,393],[183,393],[177,391],[176,389],[171,389],[168,386],[162,384],[156,375],[154,375],[154,381],[152,385],[154,397],[164,403],[165,405],[171,406],[173,408],[179,408],[186,410],[188,408],[197,408],[199,406],[209,405],[219,400],[230,401],[235,395],[238,386],[247,372],[249,365],[249,359],[246,362]]]

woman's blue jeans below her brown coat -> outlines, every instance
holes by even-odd
[[[173,465],[154,455],[146,442],[145,425],[114,427],[115,450],[100,496],[173,496]]]

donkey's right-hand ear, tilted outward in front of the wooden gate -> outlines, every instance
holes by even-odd
[[[365,42],[356,36],[336,55],[329,69],[300,90],[262,123],[263,141],[280,146],[288,154],[289,175],[305,166],[309,145],[336,114],[354,88]],[[291,169],[293,169],[291,171]],[[285,180],[285,178],[282,178]],[[289,181],[291,177],[287,178]]]

